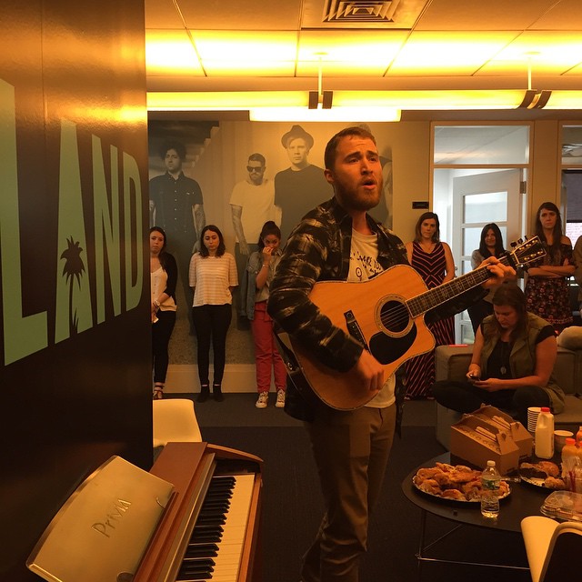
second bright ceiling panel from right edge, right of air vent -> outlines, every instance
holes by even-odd
[[[472,75],[510,42],[515,33],[413,33],[388,71],[390,75]]]

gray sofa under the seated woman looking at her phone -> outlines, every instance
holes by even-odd
[[[473,346],[438,346],[436,350],[437,380],[463,380],[471,362]],[[582,426],[582,350],[557,348],[554,374],[558,385],[566,393],[564,412],[555,416],[558,428],[572,430]],[[461,418],[461,413],[437,403],[437,441],[449,448],[450,427]],[[576,430],[574,431],[576,432]]]

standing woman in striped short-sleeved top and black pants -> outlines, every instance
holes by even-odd
[[[205,402],[210,394],[208,371],[211,342],[214,353],[212,393],[217,402],[223,400],[226,332],[233,315],[232,291],[237,285],[235,257],[226,253],[224,236],[217,226],[205,226],[200,236],[200,252],[195,253],[190,260],[190,286],[194,291],[192,319],[198,342],[200,378],[197,402]]]

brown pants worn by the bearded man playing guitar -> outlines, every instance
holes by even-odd
[[[306,423],[326,514],[304,556],[303,582],[357,582],[395,425],[395,405],[354,411],[326,408]]]

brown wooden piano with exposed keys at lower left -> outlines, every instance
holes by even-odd
[[[168,443],[149,473],[112,457],[26,565],[54,582],[260,582],[261,469],[207,443]]]

